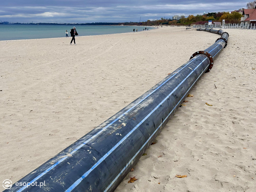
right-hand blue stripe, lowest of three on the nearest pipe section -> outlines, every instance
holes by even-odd
[[[209,66],[209,65],[208,65]],[[205,68],[207,69],[208,66]],[[202,72],[204,73],[205,70]],[[200,76],[202,75],[202,73],[199,75],[199,77],[196,79],[196,81],[200,78]],[[187,90],[187,92],[184,94],[184,96],[179,100],[179,102],[175,105],[175,107],[173,108],[173,110],[177,107],[177,105],[180,103],[180,101],[182,101],[184,99],[184,97],[188,94],[188,92],[190,91],[191,87],[194,86],[194,84],[196,83],[196,81],[190,86],[190,88]],[[166,116],[166,118],[164,119],[164,121],[157,127],[157,129],[154,131],[154,133],[148,138],[148,140],[142,145],[142,147],[140,148],[140,150],[131,158],[131,160],[124,166],[124,168],[121,170],[121,172],[114,178],[114,180],[110,183],[110,185],[104,190],[104,192],[106,192],[107,190],[109,190],[109,188],[115,183],[115,181],[118,179],[118,177],[124,172],[124,170],[126,169],[126,167],[128,167],[130,165],[130,163],[133,161],[133,159],[138,155],[138,153],[140,153],[140,151],[142,150],[142,148],[149,142],[149,140],[155,135],[155,133],[157,132],[157,130],[162,126],[162,124],[167,120],[167,118],[170,116],[170,114],[172,114],[173,110]]]

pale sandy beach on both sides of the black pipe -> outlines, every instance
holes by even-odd
[[[256,30],[225,31],[228,45],[194,97],[116,192],[255,191]],[[0,41],[0,181],[17,182],[219,37],[164,26],[79,36],[76,46],[66,37]]]

